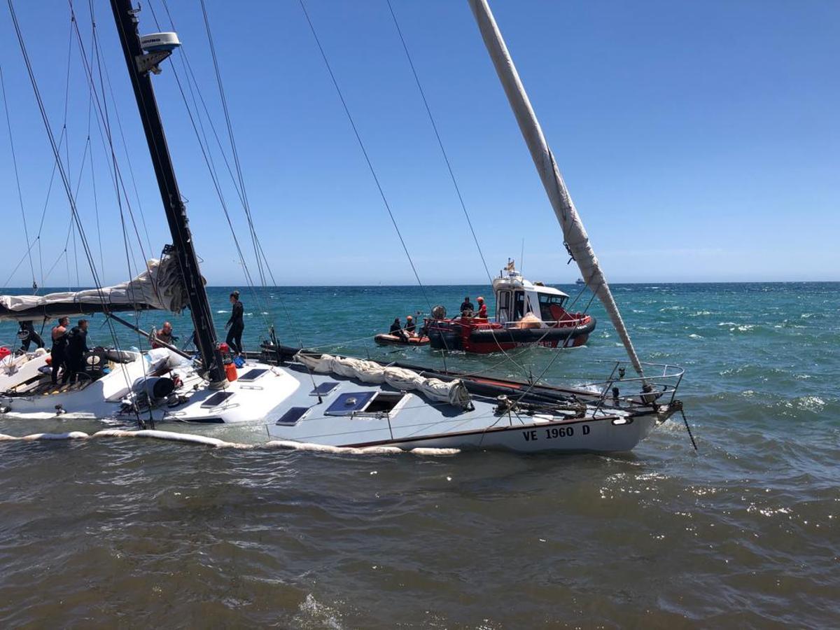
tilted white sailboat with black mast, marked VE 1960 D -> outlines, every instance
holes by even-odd
[[[470,0],[481,35],[532,150],[570,251],[587,283],[604,302],[629,360],[616,361],[605,381],[560,388],[265,344],[259,353],[247,354],[244,366],[231,374],[215,336],[150,76],[160,73],[160,62],[177,47],[177,37],[153,34],[141,39],[131,0],[111,0],[111,6],[173,240],[168,251],[176,263],[185,306],[195,325],[199,354],[195,360],[181,361],[178,359],[182,357],[172,352],[158,357],[153,354],[155,350],[142,353],[142,358],[129,356],[129,363],[124,365],[158,361],[154,370],[145,367],[134,381],[124,370],[113,370],[76,392],[7,391],[0,395],[7,417],[47,414],[66,419],[129,418],[142,414],[155,423],[264,424],[273,441],[289,445],[605,453],[633,449],[651,430],[681,410],[675,394],[682,370],[658,365],[656,375],[644,374],[483,0]],[[108,292],[99,291],[102,298],[96,308],[109,318],[118,318],[113,313],[118,310],[113,301],[104,297]],[[57,308],[61,299],[49,302],[50,307]],[[78,303],[75,297],[66,297],[64,302]],[[136,300],[129,299],[129,303]],[[90,308],[87,303],[82,310]],[[109,366],[117,365],[108,361]],[[627,375],[628,366],[637,375]],[[104,387],[95,390],[97,383],[108,384],[110,393]],[[96,391],[98,398],[82,396],[85,391]],[[60,408],[56,408],[56,401],[60,401]]]

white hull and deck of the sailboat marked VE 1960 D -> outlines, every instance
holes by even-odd
[[[60,417],[136,423],[137,413],[126,410],[126,375],[142,378],[143,359],[114,370],[82,391],[39,396],[0,396],[11,407],[6,418],[45,419]],[[144,421],[158,428],[189,433],[193,423],[253,425],[264,427],[267,441],[317,444],[329,447],[391,446],[412,450],[488,449],[522,453],[612,453],[633,449],[673,409],[659,406],[642,409],[609,402],[589,404],[584,415],[563,408],[556,412],[500,412],[494,396],[473,396],[470,409],[433,403],[423,393],[400,391],[387,384],[372,385],[335,374],[310,374],[302,365],[267,365],[249,361],[240,378],[223,389],[211,389],[192,368],[176,370],[183,384],[174,394],[177,404],[161,401],[139,410]],[[121,385],[121,386],[120,386]],[[120,386],[120,387],[118,387]],[[322,396],[313,393],[326,388]],[[115,392],[103,397],[104,392]],[[97,396],[99,398],[97,399]],[[398,399],[386,411],[343,413],[348,398]],[[60,404],[62,413],[56,412]],[[338,409],[337,409],[338,407]],[[122,409],[122,411],[121,411]],[[374,409],[374,407],[370,407]],[[289,421],[289,414],[298,416]],[[218,435],[218,433],[217,433]]]

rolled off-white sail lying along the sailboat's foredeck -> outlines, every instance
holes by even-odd
[[[295,359],[318,374],[337,374],[376,385],[387,383],[397,390],[423,392],[433,401],[449,402],[450,405],[461,409],[470,408],[470,392],[459,379],[449,382],[441,381],[426,378],[405,368],[386,367],[375,361],[337,357],[331,354],[321,354],[316,357],[298,352],[295,354]]]

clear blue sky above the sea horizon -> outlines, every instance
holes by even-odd
[[[518,261],[524,239],[526,276],[574,281],[579,273],[566,265],[559,226],[467,3],[391,2],[491,271],[508,256]],[[74,3],[89,50],[87,2]],[[97,257],[102,238],[104,280],[123,281],[118,207],[96,131],[98,234],[90,161],[80,177],[89,96],[75,41],[66,92],[69,12],[53,4],[50,11],[23,0],[15,6],[56,136],[69,94],[68,155],[71,176],[81,182],[80,212]],[[221,134],[201,6],[169,4]],[[157,253],[168,242],[160,197],[109,5],[93,5]],[[160,0],[142,6],[142,32],[157,30],[153,8],[163,29],[171,28]],[[496,0],[491,7],[608,280],[840,280],[840,3]],[[307,0],[307,8],[421,279],[486,281],[385,0]],[[276,281],[414,283],[297,0],[207,0],[207,9],[250,205]],[[0,33],[32,239],[52,157],[6,8]],[[165,63],[155,90],[202,271],[210,284],[237,285],[243,273],[176,87],[173,68],[185,77],[181,55]],[[3,282],[26,251],[4,123]],[[121,143],[117,152],[130,190]],[[223,184],[247,244],[228,176]],[[33,249],[39,282],[39,260],[46,271],[66,239],[69,211],[59,186],[45,217],[40,259]],[[136,265],[137,239],[130,240]],[[75,284],[72,250],[70,260]],[[87,284],[81,255],[79,265]],[[31,276],[24,260],[8,286],[29,285]],[[62,260],[45,284],[67,283]]]

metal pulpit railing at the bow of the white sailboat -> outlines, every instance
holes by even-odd
[[[671,404],[675,401],[677,390],[680,388],[685,369],[678,365],[665,363],[642,362],[644,376],[628,376],[633,371],[629,360],[598,360],[596,363],[612,363],[612,371],[606,381],[593,381],[580,386],[581,389],[597,389],[600,408],[604,402],[612,400],[615,405],[627,402],[633,405]],[[622,386],[633,388],[632,394],[621,393]],[[635,387],[638,386],[638,387]],[[645,386],[648,386],[645,388]],[[638,391],[636,391],[638,390]],[[593,392],[594,394],[595,392]]]

